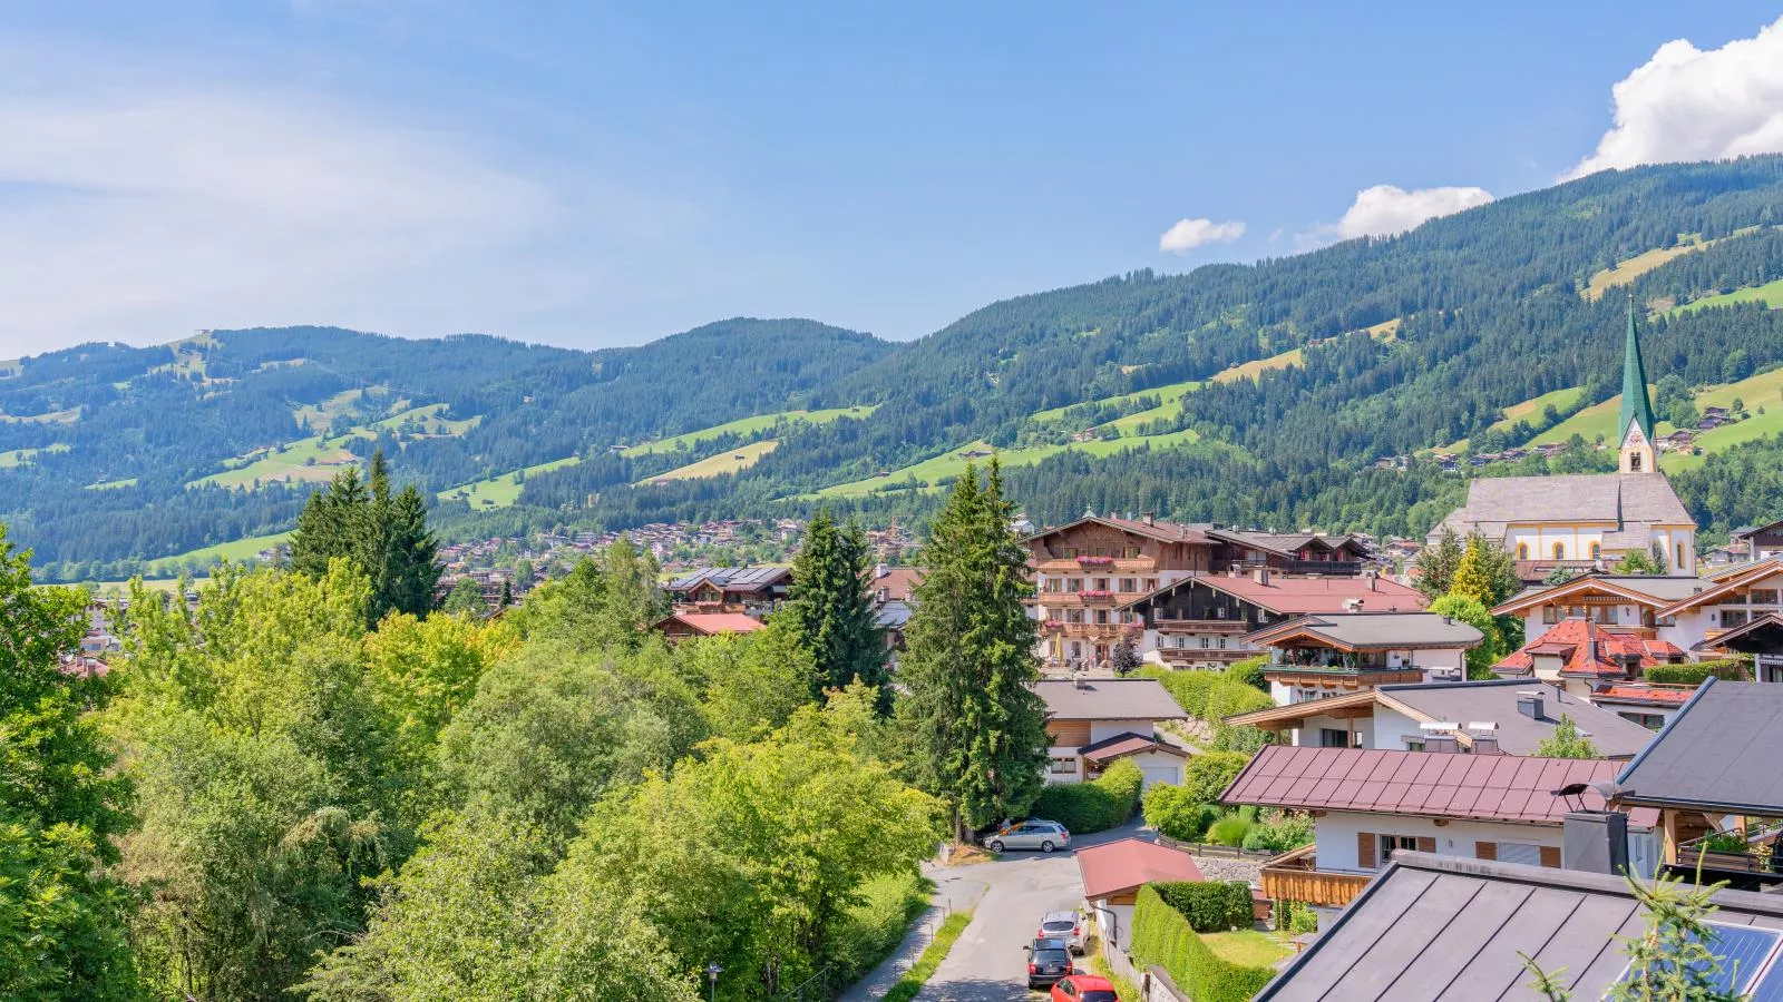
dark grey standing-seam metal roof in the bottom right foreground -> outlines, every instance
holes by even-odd
[[[1715,904],[1712,922],[1783,929],[1783,895]],[[1521,1002],[1535,993],[1519,952],[1573,998],[1603,998],[1628,966],[1617,936],[1644,925],[1623,877],[1400,850],[1257,998]]]

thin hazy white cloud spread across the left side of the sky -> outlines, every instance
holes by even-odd
[[[285,323],[526,335],[656,296],[695,221],[312,93],[0,87],[0,357]]]

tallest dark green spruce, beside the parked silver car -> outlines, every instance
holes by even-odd
[[[982,489],[968,465],[931,528],[899,669],[918,784],[949,802],[956,840],[1027,809],[1047,765],[1034,620],[1022,606],[1034,588],[1009,515],[997,462]]]

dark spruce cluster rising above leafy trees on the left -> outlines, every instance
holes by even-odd
[[[421,492],[410,483],[390,494],[390,471],[380,449],[371,455],[366,481],[351,467],[310,494],[291,535],[291,569],[321,578],[330,560],[351,560],[371,579],[367,615],[376,622],[389,612],[426,615],[433,608],[440,578],[437,549]]]

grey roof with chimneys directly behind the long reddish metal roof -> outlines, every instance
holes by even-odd
[[[1542,694],[1542,717],[1517,711],[1519,692]],[[1571,717],[1590,735],[1603,758],[1633,758],[1653,740],[1653,731],[1624,720],[1583,699],[1544,683],[1526,679],[1453,681],[1423,685],[1384,685],[1380,694],[1417,710],[1432,720],[1498,724],[1498,747],[1510,754],[1535,754],[1535,747],[1553,736],[1560,717]]]

